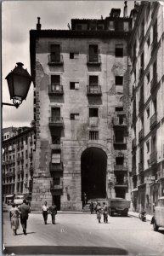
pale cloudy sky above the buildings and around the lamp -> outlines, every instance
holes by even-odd
[[[133,1],[127,1],[127,13],[133,9]],[[3,102],[10,102],[8,73],[17,62],[30,68],[31,29],[36,29],[37,17],[41,17],[42,29],[68,29],[71,19],[100,19],[109,16],[111,8],[121,8],[124,1],[3,1],[2,3],[2,95]],[[20,108],[3,106],[3,128],[30,126],[33,119],[33,84]]]

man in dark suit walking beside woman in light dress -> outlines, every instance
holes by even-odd
[[[31,208],[29,207],[25,199],[23,200],[23,204],[19,206],[19,210],[20,210],[20,223],[22,225],[24,235],[27,235],[26,234],[27,219],[28,219],[29,213],[31,212]]]

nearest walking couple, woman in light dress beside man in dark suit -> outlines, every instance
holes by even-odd
[[[31,212],[31,208],[29,207],[25,199],[19,207],[16,207],[15,204],[12,205],[12,208],[9,211],[9,218],[11,222],[11,228],[13,229],[13,232],[14,232],[14,236],[17,235],[17,230],[19,229],[20,224],[22,226],[24,235],[27,235],[26,234],[27,219],[28,219],[28,214],[30,212]],[[20,222],[19,222],[19,216],[20,216]]]

